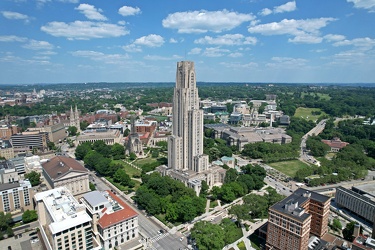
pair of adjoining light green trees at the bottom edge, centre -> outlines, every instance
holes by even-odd
[[[207,221],[195,223],[190,237],[200,250],[219,250],[242,237],[242,232],[234,222],[225,218],[219,225]]]

